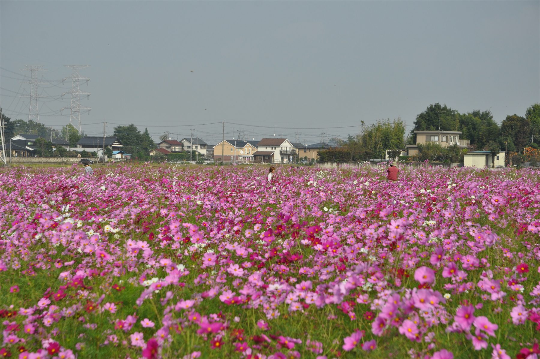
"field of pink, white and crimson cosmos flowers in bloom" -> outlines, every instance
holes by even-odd
[[[0,357],[537,358],[540,171],[0,169]]]

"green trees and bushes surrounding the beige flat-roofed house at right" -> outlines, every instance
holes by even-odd
[[[540,142],[540,103],[525,110],[525,116],[508,115],[501,124],[497,123],[491,111],[474,110],[460,113],[446,104],[429,105],[416,116],[414,127],[405,137],[405,126],[401,118],[377,121],[365,125],[361,121],[361,133],[349,135],[341,141],[340,147],[320,150],[320,162],[367,161],[370,158],[384,159],[399,157],[406,144],[416,144],[414,131],[461,131],[460,139],[468,139],[469,146],[460,150],[457,145],[447,148],[436,143],[419,145],[415,161],[462,162],[467,151],[487,150],[492,153],[508,151],[509,159],[534,161]],[[530,148],[531,150],[525,151]],[[406,158],[401,158],[406,159]]]

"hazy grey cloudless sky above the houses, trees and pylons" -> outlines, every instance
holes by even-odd
[[[436,102],[501,122],[540,102],[540,1],[0,1],[6,115],[28,119],[21,69],[43,65],[40,121],[66,124],[66,64],[91,65],[89,135],[134,123],[214,144],[221,124],[202,124],[226,121],[228,138],[310,144]]]

